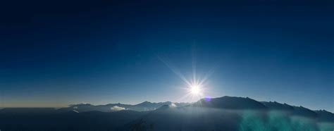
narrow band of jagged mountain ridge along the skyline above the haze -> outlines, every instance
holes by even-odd
[[[151,102],[144,101],[140,104],[101,104],[101,105],[93,105],[93,104],[70,104],[68,107],[64,108],[56,108],[58,111],[101,111],[101,112],[112,112],[111,108],[118,106],[124,110],[132,110],[132,111],[153,111],[157,108],[160,108],[163,105],[171,105],[175,104],[175,106],[207,106],[214,108],[230,108],[230,109],[268,109],[268,110],[280,110],[280,111],[292,111],[299,110],[304,113],[315,113],[326,111],[323,109],[320,110],[311,110],[309,108],[305,108],[303,106],[291,106],[289,104],[281,104],[276,101],[256,101],[254,99],[250,99],[249,97],[240,97],[240,96],[221,96],[212,99],[199,99],[199,101],[193,103],[183,103],[183,102]],[[1,108],[1,110],[7,110],[8,108]],[[18,109],[18,108],[16,108]],[[117,110],[118,111],[118,110]],[[326,111],[328,113],[332,113],[330,111]],[[333,114],[333,113],[332,113]],[[314,117],[314,115],[311,115]]]

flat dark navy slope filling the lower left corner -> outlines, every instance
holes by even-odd
[[[17,109],[14,109],[17,111]],[[118,127],[130,123],[147,112],[117,111],[105,113],[88,111],[32,112],[0,111],[1,130],[117,130]],[[37,109],[38,110],[38,109]],[[11,113],[9,113],[11,112]]]

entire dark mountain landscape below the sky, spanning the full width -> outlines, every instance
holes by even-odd
[[[162,103],[144,102],[137,107],[156,108],[158,104]],[[0,130],[334,130],[334,114],[328,111],[242,97],[169,103],[154,111],[101,112],[82,106],[82,112],[71,108],[4,108],[0,110]]]

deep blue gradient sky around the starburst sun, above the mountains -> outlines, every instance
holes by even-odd
[[[0,107],[248,96],[334,112],[333,1],[1,4]],[[211,70],[211,71],[209,71]]]

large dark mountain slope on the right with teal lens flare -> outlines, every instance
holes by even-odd
[[[223,96],[190,106],[163,106],[124,130],[333,131],[334,114],[301,106]]]

